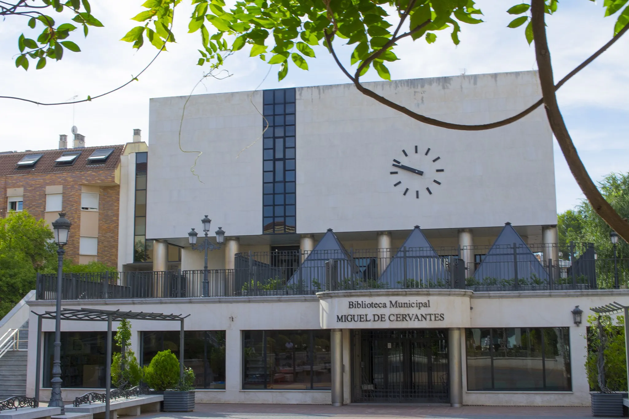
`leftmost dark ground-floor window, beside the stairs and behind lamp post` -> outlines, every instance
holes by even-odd
[[[114,332],[114,335],[116,332]],[[54,332],[44,337],[43,386],[50,387]],[[104,388],[107,332],[61,332],[61,379],[64,388]],[[113,341],[112,352],[120,352]]]

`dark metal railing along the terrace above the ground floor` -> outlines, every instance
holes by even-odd
[[[567,253],[567,254],[566,254]],[[62,299],[314,295],[365,289],[475,291],[607,289],[629,285],[629,259],[592,244],[508,244],[237,253],[234,269],[65,273]],[[38,274],[37,299],[55,300],[57,275]],[[207,290],[207,291],[205,291]]]

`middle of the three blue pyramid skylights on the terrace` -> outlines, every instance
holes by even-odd
[[[447,258],[437,254],[420,226],[415,226],[378,281],[386,288],[446,286],[450,280],[446,262]],[[386,260],[380,263],[386,263]]]

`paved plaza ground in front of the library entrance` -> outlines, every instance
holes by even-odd
[[[154,413],[142,419],[524,419],[524,418],[591,418],[589,407],[525,407],[525,406],[450,406],[427,405],[371,405],[353,404],[333,407],[329,405],[235,405],[198,403],[189,413]]]

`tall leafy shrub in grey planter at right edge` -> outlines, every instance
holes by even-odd
[[[610,316],[590,316],[587,379],[590,388],[593,416],[623,416],[623,397],[626,389],[625,334],[623,317],[620,326]]]

